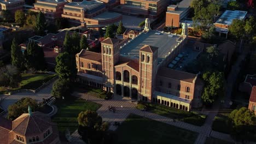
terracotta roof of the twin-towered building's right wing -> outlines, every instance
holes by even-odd
[[[168,77],[173,80],[180,80],[180,81],[185,81],[190,83],[193,83],[193,80],[196,77],[195,74],[174,70],[174,69],[169,69],[165,67],[162,67],[158,70],[158,76]]]

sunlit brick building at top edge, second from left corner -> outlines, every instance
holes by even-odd
[[[64,0],[38,0],[34,3],[34,8],[32,11],[42,11],[45,18],[49,21],[54,21],[56,18],[60,18],[63,13],[63,7],[68,2]]]

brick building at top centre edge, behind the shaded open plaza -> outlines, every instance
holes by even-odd
[[[114,10],[127,15],[144,15],[154,19],[166,11],[168,4],[169,0],[120,0],[120,5]]]

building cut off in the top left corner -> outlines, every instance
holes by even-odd
[[[15,13],[16,10],[23,10],[24,0],[0,0],[0,15],[2,10],[9,10]]]

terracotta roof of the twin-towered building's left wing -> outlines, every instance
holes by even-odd
[[[89,59],[91,61],[101,62],[101,53],[86,51],[85,49],[80,52],[79,57]]]

